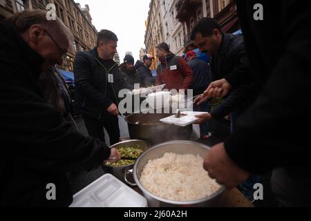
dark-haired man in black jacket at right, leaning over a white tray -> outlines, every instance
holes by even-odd
[[[247,108],[254,90],[243,37],[223,33],[214,19],[203,18],[194,27],[191,39],[198,45],[200,51],[207,52],[211,56],[211,81],[220,79],[226,81],[231,90],[221,104],[210,114],[205,115],[205,120],[211,117],[221,119],[232,113],[232,131],[234,131],[236,117]],[[207,99],[209,95],[202,95],[195,102],[202,104]]]

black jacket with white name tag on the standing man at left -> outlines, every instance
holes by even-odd
[[[77,113],[99,120],[109,117],[107,108],[113,103],[118,104],[118,93],[126,88],[115,61],[100,59],[93,48],[91,52],[79,52],[73,68]],[[113,83],[109,83],[108,74],[113,75]]]

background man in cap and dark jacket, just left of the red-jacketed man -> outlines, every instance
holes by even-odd
[[[135,64],[135,68],[140,74],[140,79],[142,81],[142,87],[148,88],[150,86],[154,86],[154,84],[156,83],[156,77],[152,76],[152,73],[150,70],[152,60],[154,59],[154,57],[147,54],[147,55],[144,55],[142,59],[144,63],[142,63],[142,61],[137,61]]]

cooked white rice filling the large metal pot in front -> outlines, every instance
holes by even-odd
[[[140,176],[145,189],[167,200],[187,201],[205,198],[220,189],[202,167],[200,155],[165,153],[149,160]]]

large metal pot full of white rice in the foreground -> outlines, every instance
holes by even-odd
[[[218,206],[225,187],[202,168],[208,151],[204,144],[173,141],[142,153],[133,177],[149,206]]]

